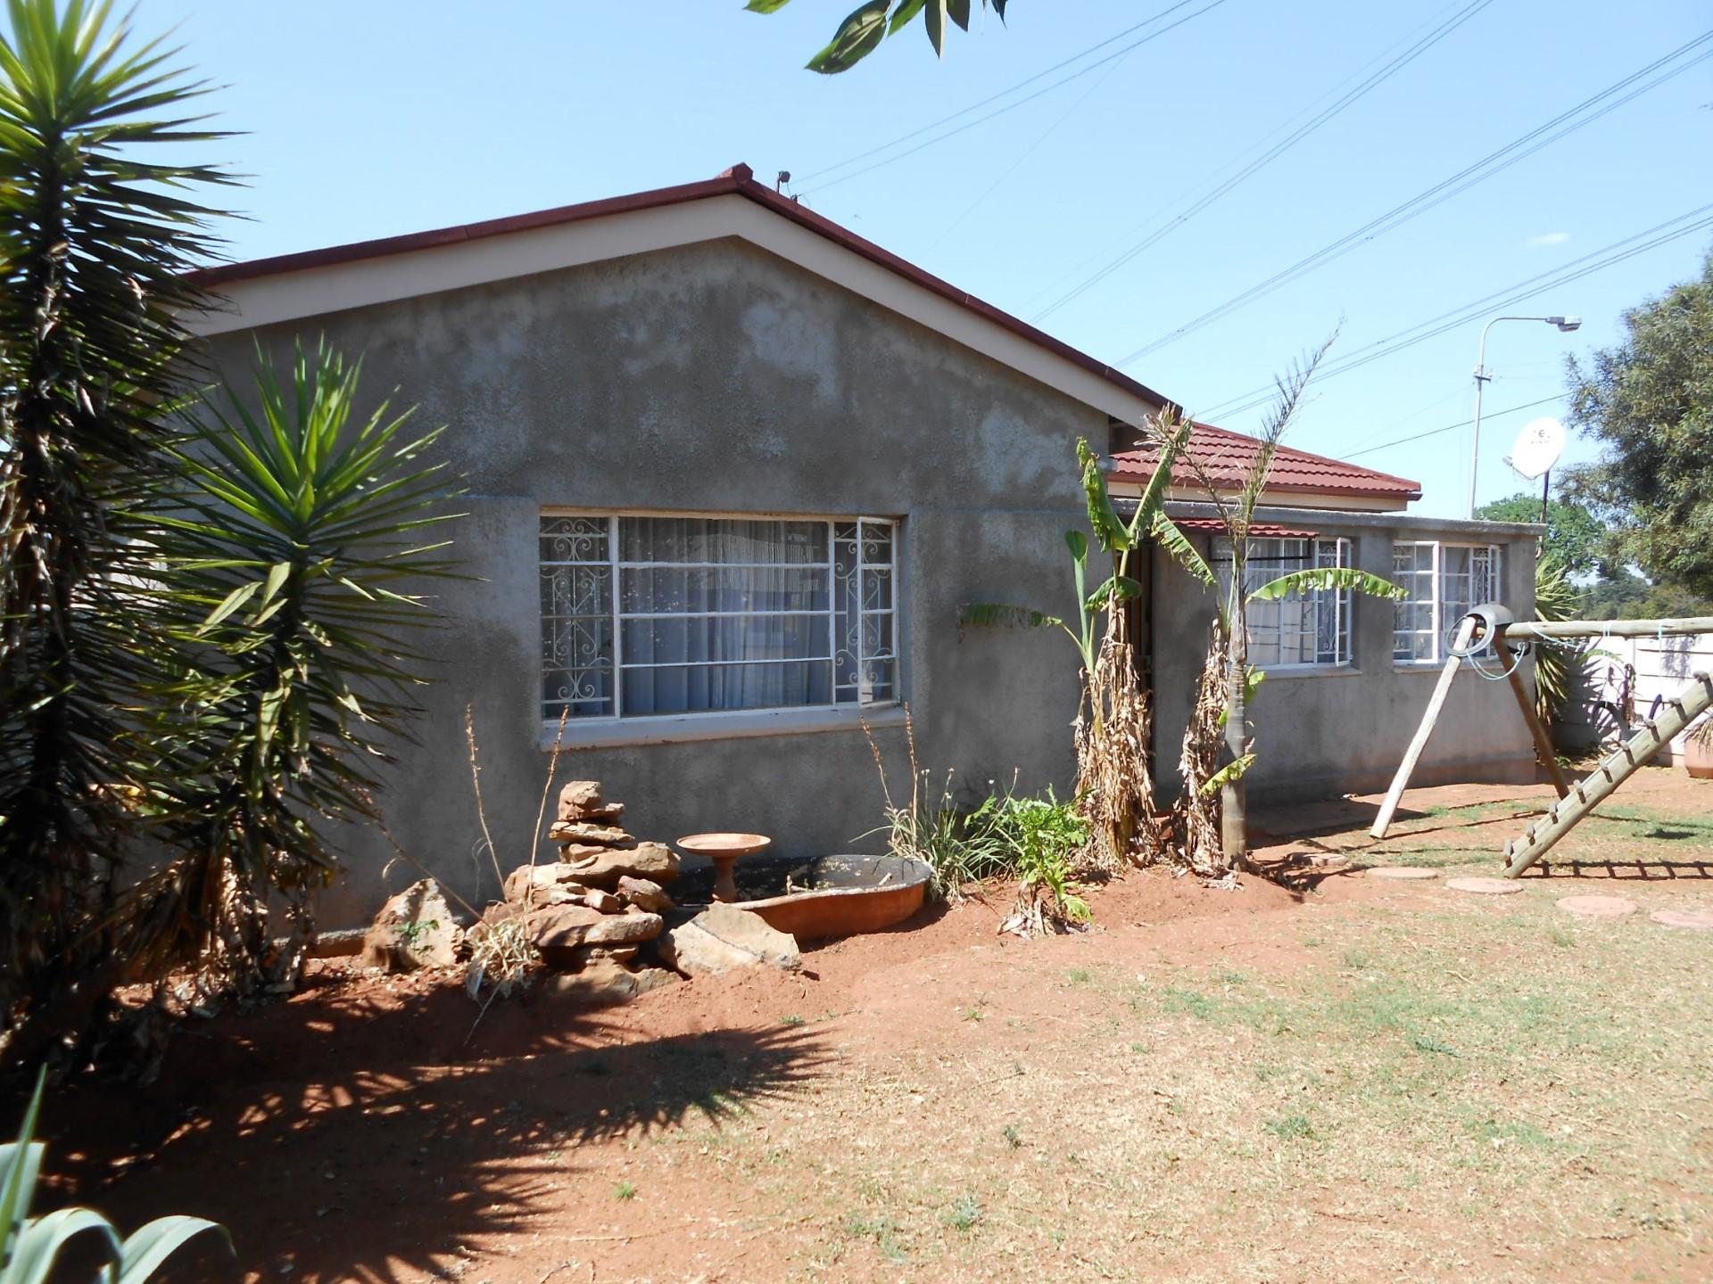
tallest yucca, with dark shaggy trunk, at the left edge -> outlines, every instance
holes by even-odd
[[[185,272],[218,243],[185,164],[219,139],[176,51],[110,3],[7,0],[0,31],[0,1046],[87,1010],[137,781],[123,717],[154,678],[120,512],[163,474]],[[166,156],[156,156],[166,152]],[[34,1032],[24,1036],[21,1025]]]

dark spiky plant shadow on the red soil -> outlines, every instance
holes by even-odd
[[[620,1041],[545,996],[498,1005],[466,1044],[473,1014],[445,986],[404,1005],[307,995],[187,1031],[149,1089],[58,1094],[45,1207],[93,1204],[123,1229],[173,1212],[230,1228],[236,1263],[204,1251],[163,1279],[418,1281],[543,1229],[581,1144],[718,1125],[826,1061],[803,1029]]]

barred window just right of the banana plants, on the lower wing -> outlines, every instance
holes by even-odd
[[[1223,596],[1232,584],[1232,541],[1218,539],[1213,556]],[[1250,539],[1244,592],[1293,570],[1348,565],[1348,539]],[[1249,603],[1249,663],[1264,669],[1350,664],[1350,606],[1348,589]]]

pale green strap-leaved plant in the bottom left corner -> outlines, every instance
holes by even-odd
[[[0,1284],[46,1284],[65,1246],[84,1238],[101,1245],[101,1284],[144,1284],[199,1234],[218,1234],[231,1246],[226,1228],[206,1217],[158,1217],[130,1238],[122,1238],[118,1228],[94,1209],[60,1209],[46,1217],[31,1217],[29,1205],[46,1150],[46,1144],[36,1140],[45,1084],[46,1072],[36,1077],[19,1138],[0,1145]]]

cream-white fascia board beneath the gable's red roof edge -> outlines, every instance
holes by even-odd
[[[1156,409],[1144,397],[740,195],[233,281],[214,289],[226,306],[197,313],[188,325],[199,336],[231,334],[725,238],[774,253],[1084,406],[1129,423],[1141,423]]]

